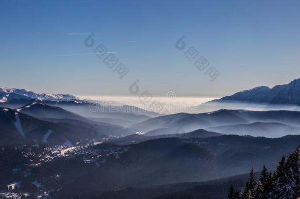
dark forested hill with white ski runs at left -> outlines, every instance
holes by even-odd
[[[74,116],[75,114],[70,114]],[[88,119],[37,119],[8,108],[0,108],[1,145],[49,143],[83,144],[102,141],[123,129],[107,123],[97,123]],[[83,143],[81,143],[83,142]]]

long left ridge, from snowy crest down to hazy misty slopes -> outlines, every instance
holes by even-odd
[[[118,120],[129,121],[128,124],[125,123],[125,126],[161,115],[114,101],[111,103],[102,101],[94,102],[81,100],[69,94],[47,94],[27,89],[0,87],[0,107],[18,109],[21,107],[26,108],[26,106],[30,106],[32,103],[57,106],[84,117],[106,118],[115,124]],[[38,117],[42,116],[38,115]],[[114,119],[116,119],[115,122],[113,121]]]

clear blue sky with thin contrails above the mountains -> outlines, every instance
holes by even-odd
[[[223,96],[300,78],[300,1],[2,0],[0,85],[51,93]],[[86,34],[95,46],[88,48]],[[175,48],[184,35],[186,49]],[[136,42],[130,42],[136,41]],[[104,44],[122,79],[90,54]],[[184,53],[194,47],[220,75],[210,82]],[[73,56],[59,56],[73,55]]]

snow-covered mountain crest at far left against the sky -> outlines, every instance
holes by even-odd
[[[71,100],[78,99],[74,95],[68,94],[47,94],[43,92],[33,92],[27,89],[6,88],[0,86],[0,102],[8,102],[10,100]]]

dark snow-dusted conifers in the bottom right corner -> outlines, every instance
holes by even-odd
[[[227,199],[297,199],[300,197],[300,146],[284,156],[274,173],[266,166],[255,179],[253,168],[242,189],[229,188]]]

